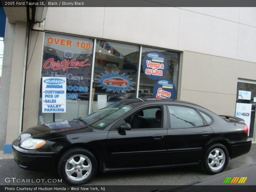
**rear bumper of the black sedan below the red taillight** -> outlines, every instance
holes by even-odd
[[[230,142],[231,159],[248,153],[252,147],[252,140],[249,138],[245,141]]]

